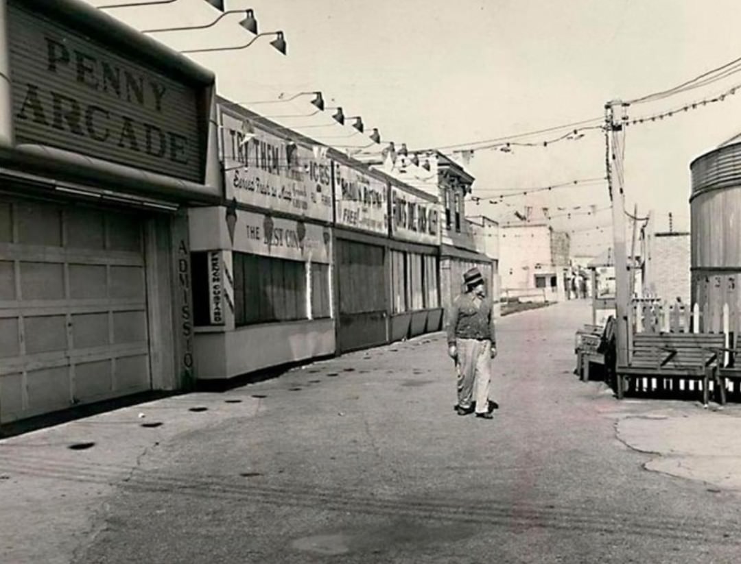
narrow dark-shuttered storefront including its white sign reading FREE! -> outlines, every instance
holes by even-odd
[[[337,352],[388,343],[389,185],[360,163],[333,162]]]

